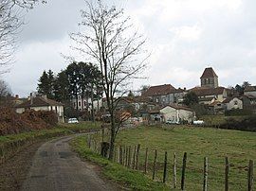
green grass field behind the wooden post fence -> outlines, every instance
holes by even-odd
[[[224,190],[225,157],[229,157],[229,190],[247,190],[248,160],[256,159],[256,133],[176,126],[174,129],[138,128],[119,132],[117,146],[141,145],[140,168],[145,148],[149,148],[150,167],[158,151],[157,180],[162,179],[164,152],[168,152],[168,182],[172,187],[173,154],[177,155],[177,183],[180,183],[183,153],[188,153],[186,190],[202,190],[204,157],[209,158],[209,190]],[[152,168],[152,167],[151,167]],[[152,177],[152,169],[149,169]],[[255,184],[255,183],[254,183]],[[254,185],[255,186],[255,185]]]

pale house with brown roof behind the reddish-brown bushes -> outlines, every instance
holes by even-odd
[[[53,111],[58,116],[58,121],[64,122],[64,104],[49,99],[46,96],[30,96],[27,101],[15,106],[16,113],[24,113],[26,110]]]

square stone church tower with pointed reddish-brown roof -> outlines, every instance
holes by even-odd
[[[216,88],[218,86],[218,76],[211,67],[206,68],[201,77],[201,87]]]

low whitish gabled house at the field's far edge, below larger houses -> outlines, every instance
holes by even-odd
[[[160,109],[160,113],[162,114],[164,121],[171,120],[174,123],[180,123],[183,120],[192,122],[195,118],[195,113],[191,108],[173,104]]]

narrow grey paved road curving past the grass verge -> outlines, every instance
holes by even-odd
[[[37,150],[22,190],[119,190],[99,177],[96,165],[82,162],[70,150],[71,138],[47,142]]]

